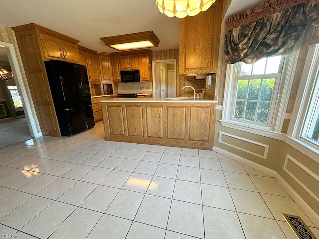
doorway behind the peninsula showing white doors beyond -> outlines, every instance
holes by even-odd
[[[176,59],[152,61],[153,96],[176,97]]]

